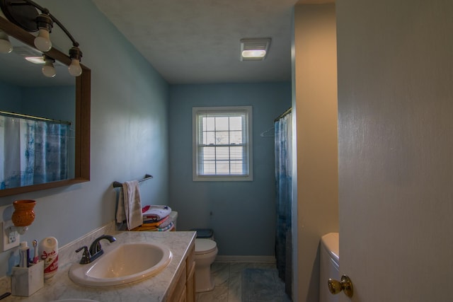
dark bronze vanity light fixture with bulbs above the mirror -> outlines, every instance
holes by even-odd
[[[43,8],[31,0],[0,0],[0,8],[9,21],[23,28],[23,30],[27,30],[28,32],[39,31],[34,42],[35,47],[41,52],[48,52],[52,49],[49,34],[52,32],[53,23],[57,23],[59,28],[63,30],[72,42],[72,47],[69,50],[69,57],[71,58],[71,64],[68,67],[69,74],[73,76],[81,75],[80,60],[82,52],[79,49],[79,43],[74,40],[74,37],[72,37],[64,25],[55,16],[52,16],[47,8]],[[41,13],[38,13],[38,10]],[[4,38],[0,32],[0,52],[7,52],[8,50],[4,46],[7,45],[5,41],[8,41],[8,36],[6,35],[6,38]]]

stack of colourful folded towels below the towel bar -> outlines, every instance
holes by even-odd
[[[143,223],[132,231],[171,231],[174,226],[168,206],[151,205],[142,208]]]

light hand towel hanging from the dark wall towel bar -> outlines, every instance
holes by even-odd
[[[127,222],[127,229],[132,230],[132,228],[137,228],[137,226],[141,226],[143,224],[142,200],[140,198],[139,182],[137,180],[124,182],[122,184],[122,195],[124,204],[123,206],[124,216]],[[118,204],[120,202],[121,199],[118,201]],[[119,209],[119,211],[120,210],[121,209]]]

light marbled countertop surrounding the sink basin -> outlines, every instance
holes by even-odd
[[[105,232],[104,232],[105,233]],[[102,233],[101,233],[102,234]],[[181,260],[188,252],[188,247],[192,240],[195,240],[195,232],[116,232],[110,231],[105,233],[113,235],[117,239],[114,243],[109,243],[107,240],[102,240],[103,250],[108,252],[121,243],[154,243],[166,245],[172,252],[173,257],[171,262],[164,270],[156,276],[135,281],[130,284],[117,286],[91,288],[75,284],[69,279],[69,267],[74,263],[78,263],[81,257],[81,252],[74,252],[76,248],[82,245],[88,245],[93,238],[98,236],[98,233],[88,236],[83,242],[82,240],[76,243],[71,243],[70,246],[62,247],[62,252],[59,251],[59,267],[57,274],[54,277],[45,280],[44,287],[35,292],[29,297],[9,296],[6,301],[33,301],[33,302],[49,302],[64,298],[85,298],[96,301],[164,301],[167,296],[168,287],[174,281],[176,271],[181,265]],[[89,241],[91,240],[91,241]],[[63,251],[64,250],[64,251]],[[75,255],[74,255],[75,254]],[[102,256],[101,256],[102,257]]]

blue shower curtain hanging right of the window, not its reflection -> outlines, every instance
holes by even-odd
[[[292,113],[275,119],[275,192],[277,230],[275,257],[285,291],[292,296]]]

